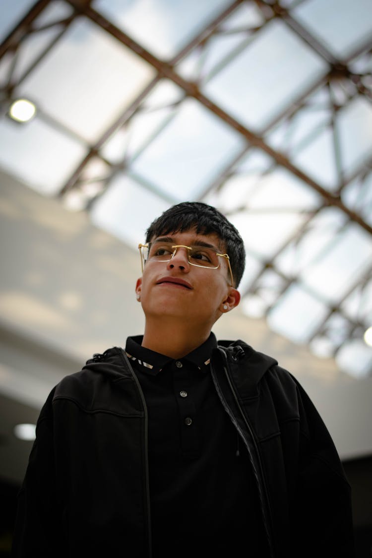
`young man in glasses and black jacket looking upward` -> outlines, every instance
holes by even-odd
[[[350,490],[302,387],[211,328],[239,304],[244,245],[211,206],[168,209],[140,244],[143,336],[53,389],[13,555],[350,557]]]

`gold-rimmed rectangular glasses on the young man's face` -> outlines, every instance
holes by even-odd
[[[228,254],[220,254],[216,248],[209,246],[184,246],[183,244],[173,244],[172,242],[164,242],[162,240],[155,240],[146,244],[139,243],[138,248],[141,253],[142,273],[147,261],[169,262],[175,256],[178,248],[186,248],[187,259],[191,266],[216,270],[220,267],[220,258],[225,258],[229,266],[231,286],[234,285],[230,258]]]

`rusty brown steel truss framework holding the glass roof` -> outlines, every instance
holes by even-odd
[[[273,161],[270,170],[272,170],[274,167],[282,167],[283,169],[286,169],[286,171],[291,173],[293,176],[296,176],[298,179],[304,182],[312,190],[315,190],[317,194],[321,196],[321,205],[319,205],[317,209],[308,212],[307,218],[305,219],[302,228],[297,231],[296,235],[294,235],[292,238],[289,238],[287,242],[283,244],[283,246],[281,246],[278,252],[274,254],[273,257],[271,257],[267,261],[262,262],[262,268],[260,272],[258,273],[257,277],[255,277],[254,281],[249,286],[247,293],[245,294],[259,294],[260,285],[267,270],[275,271],[277,276],[281,277],[282,279],[281,288],[278,289],[277,296],[283,294],[288,286],[297,280],[296,275],[291,275],[290,271],[288,271],[288,273],[284,275],[280,270],[278,270],[276,266],[276,257],[289,244],[299,242],[303,235],[307,233],[308,228],[311,227],[313,217],[324,207],[334,207],[337,208],[337,210],[341,211],[342,214],[345,216],[344,227],[347,225],[347,223],[354,222],[361,228],[363,228],[366,232],[372,234],[372,226],[370,222],[365,219],[363,212],[360,211],[359,208],[351,209],[350,206],[346,205],[344,200],[342,199],[342,191],[344,190],[345,186],[351,181],[359,180],[360,189],[363,189],[366,179],[368,179],[371,174],[372,158],[369,161],[363,161],[359,168],[353,171],[352,175],[346,177],[342,170],[339,137],[337,127],[335,126],[337,111],[342,106],[337,100],[337,95],[335,95],[335,92],[337,92],[337,90],[340,90],[340,88],[342,89],[343,95],[345,97],[345,103],[350,102],[350,100],[357,95],[363,96],[369,101],[372,100],[370,81],[366,79],[366,74],[355,73],[355,71],[352,71],[350,64],[350,62],[354,60],[355,57],[363,53],[372,56],[372,38],[369,41],[366,41],[365,44],[360,45],[357,50],[352,52],[347,60],[343,60],[341,62],[337,60],[335,56],[332,55],[332,53],[328,51],[327,48],[316,39],[316,37],[312,36],[305,27],[303,27],[292,17],[291,9],[283,8],[279,2],[269,3],[264,2],[263,0],[255,0],[254,3],[262,13],[264,22],[261,26],[246,29],[245,31],[247,32],[247,36],[253,37],[254,34],[259,32],[263,26],[268,24],[268,22],[279,18],[282,22],[284,22],[286,26],[291,29],[292,32],[297,34],[301,41],[304,41],[308,47],[316,52],[318,56],[321,56],[328,66],[326,75],[323,75],[321,79],[319,79],[316,83],[313,83],[311,87],[308,88],[308,90],[301,95],[301,97],[298,97],[296,99],[295,103],[292,103],[290,106],[286,107],[281,114],[278,114],[273,119],[273,121],[270,122],[260,134],[258,134],[257,132],[248,129],[246,126],[243,125],[242,122],[239,122],[238,119],[231,116],[228,112],[226,112],[226,110],[212,102],[212,100],[202,92],[202,75],[200,75],[199,79],[188,81],[183,78],[177,70],[177,65],[183,59],[185,59],[187,55],[189,55],[191,52],[197,52],[197,55],[202,57],[206,46],[209,44],[209,41],[213,37],[226,32],[224,30],[224,22],[231,15],[231,13],[235,11],[235,9],[237,9],[241,4],[244,4],[244,0],[235,0],[234,2],[232,2],[228,8],[226,8],[222,13],[215,17],[215,19],[211,21],[209,25],[207,25],[200,33],[198,33],[197,36],[194,36],[189,44],[184,46],[182,50],[179,51],[177,55],[169,61],[160,60],[158,57],[154,56],[151,52],[145,49],[141,44],[135,41],[132,37],[127,35],[127,33],[123,32],[118,27],[113,25],[112,22],[108,21],[107,18],[105,18],[101,13],[91,7],[90,1],[67,1],[74,10],[73,14],[62,21],[57,21],[49,25],[58,25],[61,27],[61,30],[50,42],[49,46],[47,46],[46,49],[40,54],[40,56],[38,56],[37,59],[33,61],[32,65],[27,68],[25,73],[23,73],[23,75],[18,77],[17,79],[15,79],[13,70],[16,66],[18,52],[22,48],[22,41],[24,41],[25,37],[32,33],[37,33],[45,30],[45,26],[37,27],[35,26],[35,22],[42,11],[50,4],[51,0],[39,0],[38,2],[36,2],[27,13],[27,15],[23,18],[23,20],[18,23],[18,25],[12,30],[12,32],[9,33],[6,40],[3,41],[2,45],[0,45],[0,62],[1,59],[5,56],[11,59],[11,63],[9,64],[10,69],[7,84],[3,87],[2,90],[0,90],[0,106],[2,107],[2,113],[6,112],[7,106],[9,102],[15,97],[17,88],[22,83],[22,80],[24,80],[27,75],[29,75],[38,64],[40,64],[47,53],[57,44],[61,37],[64,36],[64,33],[69,28],[71,23],[74,22],[75,18],[81,15],[89,18],[89,20],[93,21],[96,25],[102,28],[102,30],[112,35],[121,44],[136,53],[136,55],[146,61],[147,64],[151,65],[152,68],[156,70],[156,76],[151,81],[151,83],[149,83],[146,88],[143,89],[141,94],[138,95],[134,102],[129,107],[127,107],[122,114],[120,114],[117,121],[111,123],[102,134],[102,136],[99,137],[93,145],[87,146],[88,154],[86,155],[84,160],[79,163],[78,167],[76,167],[69,180],[66,181],[65,185],[60,191],[60,196],[65,196],[71,191],[78,190],[81,185],[84,184],[82,173],[84,172],[84,169],[89,164],[89,162],[96,157],[100,157],[106,163],[108,169],[110,169],[106,176],[98,177],[98,180],[102,181],[103,190],[106,187],[109,187],[110,180],[112,180],[113,176],[115,176],[117,172],[122,172],[123,170],[128,170],[129,173],[131,172],[131,161],[128,161],[125,155],[123,156],[123,160],[120,163],[113,165],[112,163],[110,163],[110,161],[105,159],[103,153],[101,152],[102,147],[118,129],[128,126],[131,121],[136,118],[137,114],[139,114],[143,110],[144,102],[149,93],[152,92],[154,87],[163,78],[166,78],[168,80],[171,80],[172,83],[176,84],[179,88],[182,89],[184,98],[189,97],[195,99],[205,109],[209,110],[216,117],[221,119],[221,121],[224,121],[226,124],[228,124],[228,126],[233,128],[245,140],[244,150],[241,151],[241,153],[239,153],[237,157],[235,157],[234,161],[231,161],[230,164],[226,166],[224,171],[220,173],[218,179],[214,180],[211,184],[206,185],[203,195],[207,194],[209,191],[218,190],[223,187],[225,180],[234,174],[236,163],[238,163],[239,160],[241,160],[247,154],[247,152],[249,152],[249,150],[258,149],[266,153]],[[296,6],[300,3],[301,1],[297,2]],[[229,58],[227,58],[224,63],[228,64]],[[306,172],[303,172],[301,169],[293,164],[293,162],[291,161],[291,147],[289,145],[283,146],[282,150],[278,150],[270,146],[267,141],[268,133],[272,131],[272,129],[274,129],[279,123],[281,123],[282,126],[287,126],[288,130],[290,130],[292,122],[296,118],[299,111],[302,110],[304,107],[308,107],[310,105],[311,95],[320,88],[324,88],[327,91],[329,99],[328,124],[332,129],[336,169],[338,175],[338,187],[334,191],[327,190],[326,187],[324,187],[318,181],[314,180],[310,175],[306,174]],[[56,121],[55,118],[52,118],[50,115],[43,113],[42,110],[40,110],[40,117],[44,118],[56,128],[61,129],[64,133],[76,137],[76,133],[74,133],[70,129],[67,129],[63,123]],[[79,141],[86,144],[84,138],[79,137]],[[138,180],[141,181],[141,179]],[[153,185],[147,184],[144,181],[142,181],[142,185],[144,187],[148,187],[149,189],[156,190]],[[162,195],[164,196],[164,194]],[[89,200],[87,207],[89,208],[92,203],[94,203],[94,198]],[[329,329],[328,325],[330,324],[329,320],[334,315],[340,315],[346,320],[348,324],[344,339],[350,338],[352,336],[358,336],[361,334],[361,331],[366,329],[369,324],[365,323],[363,316],[361,316],[360,319],[356,320],[350,319],[350,317],[344,315],[344,312],[341,310],[341,304],[345,300],[345,298],[349,294],[351,294],[351,292],[355,291],[355,289],[360,288],[361,293],[363,293],[364,288],[370,281],[370,275],[371,270],[369,270],[368,273],[366,273],[363,277],[358,277],[355,284],[350,286],[349,292],[347,292],[347,294],[342,297],[342,300],[339,300],[335,305],[329,305],[329,311],[325,320],[323,320],[323,323],[319,326],[317,331],[315,331],[315,333],[313,333],[309,337],[309,341],[316,336],[327,335],[327,331]],[[268,305],[266,311],[269,312],[271,307],[272,305]],[[335,344],[335,353],[341,347],[341,345],[342,340],[339,343]]]

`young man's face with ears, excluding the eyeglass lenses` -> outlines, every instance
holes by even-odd
[[[183,246],[207,244],[219,253],[225,249],[218,235],[196,234],[194,229],[152,238],[151,242],[160,239]],[[217,269],[197,267],[189,263],[186,248],[178,248],[168,262],[147,261],[136,286],[146,319],[173,316],[211,327],[221,313],[231,310],[240,299],[238,291],[230,285],[228,263],[225,258],[219,260]]]

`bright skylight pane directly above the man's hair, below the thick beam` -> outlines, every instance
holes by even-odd
[[[194,99],[134,161],[132,169],[175,201],[195,199],[245,147],[245,140]]]

